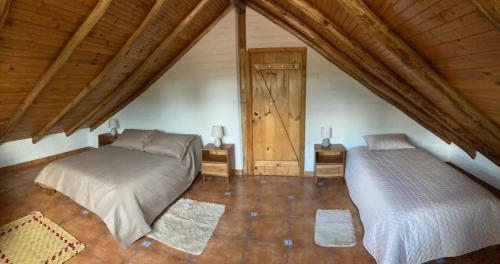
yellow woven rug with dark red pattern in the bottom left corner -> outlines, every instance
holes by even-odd
[[[0,227],[0,263],[64,263],[84,248],[40,212]]]

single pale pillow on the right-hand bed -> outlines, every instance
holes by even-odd
[[[415,148],[406,134],[379,134],[363,136],[369,150],[395,150]]]

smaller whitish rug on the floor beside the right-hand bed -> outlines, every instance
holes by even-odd
[[[316,211],[314,242],[323,247],[352,247],[356,233],[349,210]]]

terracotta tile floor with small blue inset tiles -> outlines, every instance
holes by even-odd
[[[38,210],[61,225],[86,249],[68,263],[374,263],[362,244],[363,226],[347,188],[336,181],[314,186],[310,178],[236,177],[227,185],[208,177],[183,195],[223,203],[226,212],[203,253],[189,255],[143,238],[127,251],[118,248],[103,222],[57,193],[33,186],[42,167],[0,175],[0,225]],[[201,177],[200,177],[201,178]],[[314,244],[316,209],[350,209],[358,244],[323,248]],[[83,213],[82,213],[83,212]],[[291,240],[285,246],[284,240]],[[143,242],[150,242],[146,247]],[[440,263],[499,263],[499,247],[489,247]]]

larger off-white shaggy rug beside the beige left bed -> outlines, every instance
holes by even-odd
[[[148,237],[177,250],[200,255],[225,209],[222,204],[180,199],[156,221]]]

